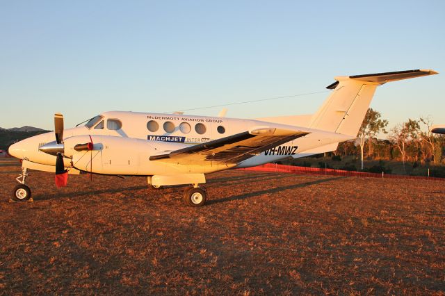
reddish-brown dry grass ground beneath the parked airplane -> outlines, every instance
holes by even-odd
[[[9,203],[18,171],[0,162],[0,295],[444,295],[444,181],[233,170],[191,208],[144,178],[32,172],[34,202]]]

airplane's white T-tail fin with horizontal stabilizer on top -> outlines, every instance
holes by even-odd
[[[335,83],[327,86],[334,90],[320,109],[313,115],[310,127],[344,135],[357,136],[366,110],[371,104],[375,88],[389,81],[410,79],[438,74],[433,70],[416,69],[400,72],[337,76]]]

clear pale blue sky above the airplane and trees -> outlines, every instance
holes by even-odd
[[[393,126],[445,124],[445,1],[2,1],[0,126],[74,126],[322,92],[334,76],[435,69],[387,83]],[[314,113],[329,92],[229,106],[227,117]],[[221,108],[187,111],[217,115]]]

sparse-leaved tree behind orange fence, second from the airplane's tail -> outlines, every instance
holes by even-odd
[[[405,160],[406,160],[406,147],[410,143],[414,143],[418,139],[420,125],[417,120],[408,119],[407,122],[397,124],[391,129],[391,135],[389,140],[393,143],[402,155],[403,170],[406,173]]]

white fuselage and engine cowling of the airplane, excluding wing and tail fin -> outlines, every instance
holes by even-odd
[[[340,135],[297,127],[301,131],[310,131],[309,135],[298,138],[283,145],[264,151],[263,153],[249,158],[238,165],[177,165],[164,163],[162,161],[149,161],[149,156],[165,154],[166,151],[175,151],[190,145],[197,145],[229,135],[242,133],[256,126],[270,126],[276,128],[293,128],[287,124],[275,124],[260,120],[240,120],[225,117],[204,117],[191,115],[168,115],[156,113],[133,113],[133,112],[106,112],[101,115],[104,120],[103,129],[97,129],[100,121],[88,129],[79,126],[73,129],[65,129],[65,166],[71,163],[77,170],[94,172],[98,174],[122,174],[151,176],[156,174],[191,174],[210,173],[227,170],[232,167],[252,167],[280,161],[284,158],[306,156],[319,152],[313,151],[318,147],[329,147],[332,144],[351,139],[350,136]],[[118,130],[108,129],[107,120],[119,120],[122,128]],[[159,125],[157,131],[149,131],[147,122],[154,121]],[[174,131],[168,133],[164,130],[165,122],[174,124]],[[181,124],[182,129],[181,129]],[[204,133],[197,133],[195,126],[202,124]],[[166,124],[168,125],[168,124]],[[188,125],[190,131],[188,131]],[[222,126],[222,128],[220,127]],[[218,131],[219,130],[222,132]],[[94,144],[93,151],[75,151],[74,146],[90,142]],[[39,151],[39,147],[48,142],[53,142],[54,132],[36,135],[32,138],[22,140],[10,147],[10,153],[17,157],[26,159],[33,163],[42,165],[55,165],[56,157]],[[316,150],[314,150],[316,151]]]

